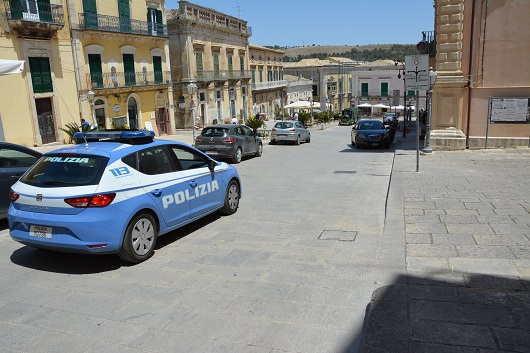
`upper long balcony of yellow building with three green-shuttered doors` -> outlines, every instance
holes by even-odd
[[[95,13],[79,14],[79,30],[139,34],[144,36],[167,37],[167,25],[120,18]]]

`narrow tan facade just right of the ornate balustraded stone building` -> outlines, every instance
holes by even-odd
[[[287,93],[287,81],[283,77],[284,52],[250,44],[249,53],[252,114],[265,114],[267,119],[280,117]]]

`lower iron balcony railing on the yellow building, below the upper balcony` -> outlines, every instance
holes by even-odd
[[[171,83],[169,71],[145,72],[93,72],[87,74],[88,87],[92,89],[155,86]]]

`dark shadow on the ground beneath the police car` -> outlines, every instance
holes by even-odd
[[[220,216],[216,214],[209,215],[184,227],[160,236],[157,239],[155,253],[153,256],[156,256],[157,250],[173,244],[174,242],[188,236],[189,234],[199,230],[200,228],[214,222],[219,218]],[[5,225],[4,223],[0,223],[0,226],[5,226],[4,229],[7,229],[7,221],[5,222]],[[10,259],[12,263],[19,266],[24,266],[39,271],[66,274],[100,273],[113,271],[122,266],[134,266],[133,264],[123,262],[117,255],[114,254],[91,255],[64,253],[36,249],[30,246],[23,246],[15,250]]]

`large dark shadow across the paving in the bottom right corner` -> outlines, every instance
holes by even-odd
[[[530,352],[530,281],[480,274],[409,275],[372,295],[363,353],[501,351]]]

